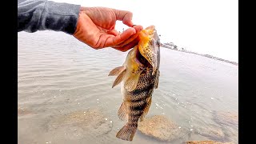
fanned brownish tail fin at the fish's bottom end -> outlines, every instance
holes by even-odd
[[[123,126],[121,130],[118,131],[116,137],[122,140],[132,141],[134,138],[134,134],[136,133],[136,130],[137,126],[129,126],[126,123],[126,125]]]

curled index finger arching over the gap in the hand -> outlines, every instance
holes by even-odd
[[[126,10],[114,10],[117,20],[122,21],[126,26],[133,26],[134,23],[131,22],[133,14]]]

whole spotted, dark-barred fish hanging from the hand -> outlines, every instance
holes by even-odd
[[[121,83],[123,102],[118,117],[126,125],[118,131],[117,138],[132,141],[138,127],[150,109],[154,89],[158,88],[160,64],[160,39],[154,26],[149,26],[139,34],[139,42],[129,51],[126,62],[110,71],[109,76],[117,76],[114,86]]]

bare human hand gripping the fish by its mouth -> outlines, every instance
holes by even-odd
[[[138,33],[142,26],[134,26],[130,11],[106,7],[81,7],[74,37],[94,49],[113,47],[126,51],[138,44]],[[114,30],[115,22],[122,21],[129,29],[119,34]]]

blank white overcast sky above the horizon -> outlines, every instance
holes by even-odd
[[[161,42],[238,62],[238,0],[54,0],[133,12],[137,25],[154,25]],[[117,22],[116,29],[127,28]]]

